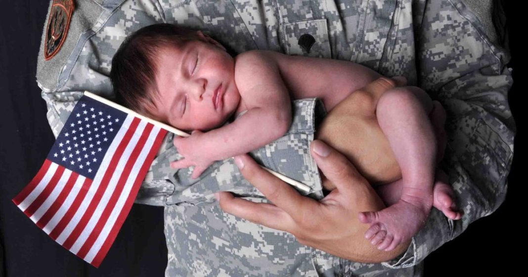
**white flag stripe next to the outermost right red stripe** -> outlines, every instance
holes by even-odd
[[[143,147],[141,153],[139,154],[139,157],[136,160],[136,163],[134,164],[134,167],[132,168],[131,174],[127,179],[127,183],[125,184],[125,187],[122,190],[121,195],[119,196],[119,199],[117,200],[116,206],[112,210],[112,213],[110,214],[110,217],[108,218],[108,221],[105,224],[105,227],[103,227],[101,233],[97,237],[97,240],[95,243],[93,243],[92,248],[87,253],[87,255],[84,257],[84,260],[91,263],[91,261],[95,258],[97,253],[102,247],[102,244],[105,243],[106,238],[108,237],[108,234],[112,230],[112,227],[114,227],[117,217],[119,216],[119,213],[122,211],[123,206],[125,205],[125,202],[130,194],[130,190],[132,189],[135,180],[137,179],[137,174],[139,173],[139,169],[143,166],[145,159],[148,156],[148,152],[150,149],[152,149],[152,145],[154,144],[154,141],[156,140],[156,137],[159,133],[160,128],[154,126],[152,131],[150,131],[150,135],[148,136],[147,141],[145,142],[145,146]]]

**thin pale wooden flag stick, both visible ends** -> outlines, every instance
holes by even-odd
[[[139,114],[139,113],[137,113],[137,112],[135,112],[133,110],[127,109],[127,108],[125,108],[125,107],[123,107],[123,106],[121,106],[121,105],[119,105],[117,103],[114,103],[114,102],[112,102],[110,100],[102,98],[99,95],[93,94],[93,93],[91,93],[89,91],[84,91],[84,95],[86,95],[86,96],[88,96],[88,97],[90,97],[90,98],[92,98],[94,100],[97,100],[99,102],[105,103],[108,106],[110,106],[112,108],[116,108],[116,109],[118,109],[118,110],[120,110],[122,112],[125,112],[125,113],[128,113],[128,114],[132,114],[133,116],[135,116],[135,117],[137,117],[139,119],[145,120],[145,121],[151,123],[152,125],[157,126],[159,128],[162,128],[162,129],[165,129],[165,130],[167,130],[169,132],[175,133],[176,135],[178,135],[180,137],[191,136],[191,135],[189,135],[188,133],[186,133],[186,132],[184,132],[182,130],[178,130],[178,129],[172,127],[172,126],[166,125],[165,123],[162,123],[162,122],[150,119],[148,117],[142,116],[141,114]],[[284,182],[286,182],[286,183],[288,183],[288,184],[290,184],[290,185],[292,185],[294,187],[297,187],[298,189],[304,190],[305,192],[309,192],[310,191],[310,187],[305,185],[305,184],[303,184],[303,183],[300,183],[300,182],[298,182],[298,181],[296,181],[294,179],[286,177],[286,176],[284,176],[284,175],[282,175],[280,173],[277,173],[277,172],[275,172],[273,170],[270,170],[270,169],[268,169],[266,167],[263,167],[263,166],[260,166],[260,167],[262,167],[263,169],[266,169],[266,171],[268,171],[269,173],[271,173],[275,177],[283,180]]]

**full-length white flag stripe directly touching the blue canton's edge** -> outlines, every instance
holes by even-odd
[[[110,147],[108,148],[108,151],[105,154],[105,157],[103,157],[101,165],[99,166],[99,170],[97,170],[97,173],[93,178],[92,185],[90,186],[90,189],[88,190],[86,196],[84,196],[84,199],[82,200],[79,209],[77,209],[77,212],[71,218],[71,221],[64,228],[62,233],[57,237],[56,242],[58,242],[60,245],[62,245],[64,241],[68,238],[68,236],[70,236],[71,232],[73,232],[73,229],[81,220],[84,212],[86,212],[88,205],[90,205],[90,203],[92,202],[93,195],[95,195],[95,193],[97,192],[97,189],[101,184],[101,180],[105,176],[106,169],[108,168],[108,165],[110,164],[110,161],[112,160],[112,157],[114,156],[117,147],[121,143],[121,140],[123,139],[123,137],[125,137],[125,133],[128,131],[130,123],[133,119],[133,116],[128,115],[123,121],[123,125],[121,126],[121,128],[119,128],[116,137],[114,138],[114,140],[112,140],[112,143],[110,144]]]

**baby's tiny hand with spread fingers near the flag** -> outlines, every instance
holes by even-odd
[[[196,179],[200,177],[205,169],[213,164],[214,160],[209,158],[207,153],[201,151],[200,138],[203,138],[204,133],[201,131],[193,131],[189,137],[176,137],[174,138],[174,146],[180,154],[183,155],[183,159],[173,161],[171,163],[172,168],[186,168],[194,166],[193,174],[191,178]]]

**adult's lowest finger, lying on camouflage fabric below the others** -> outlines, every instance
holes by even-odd
[[[234,197],[228,192],[219,192],[220,208],[226,213],[247,219],[253,223],[277,230],[290,232],[294,221],[281,208],[268,203],[254,203],[246,199]]]

